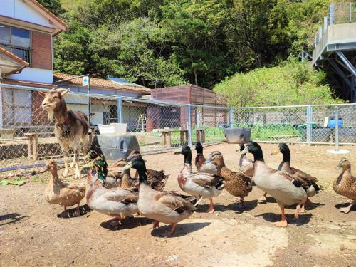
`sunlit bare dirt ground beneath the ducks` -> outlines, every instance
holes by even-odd
[[[271,156],[276,145],[262,147],[266,163],[277,167],[282,155]],[[329,154],[329,148],[290,145],[292,166],[318,177],[324,190],[300,219],[293,219],[294,207],[286,209],[286,228],[273,226],[280,210],[271,197],[258,205],[262,192],[256,187],[246,197],[245,209],[227,192],[216,198],[214,214],[204,212],[207,201],[202,201],[165,239],[160,234],[170,226],[152,230],[150,219],[137,216],[112,228],[103,222],[108,216],[90,211],[84,200],[83,216],[61,218],[63,208],[43,199],[45,177],[21,187],[2,186],[0,266],[356,266],[356,209],[349,214],[338,210],[347,203],[332,188],[342,155]],[[342,149],[350,150],[347,157],[356,167],[356,147]],[[237,169],[236,145],[206,147],[204,154],[213,150],[224,155],[227,167]],[[180,192],[182,155],[144,158],[147,168],[171,174],[165,189]]]

